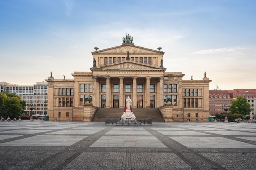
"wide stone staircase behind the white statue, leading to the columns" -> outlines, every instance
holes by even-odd
[[[164,122],[158,108],[132,108],[136,119],[152,119],[152,122]],[[120,119],[124,108],[98,108],[92,121],[105,121],[105,119]]]

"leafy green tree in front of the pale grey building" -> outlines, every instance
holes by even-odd
[[[0,93],[0,115],[4,117],[20,117],[24,112],[26,102],[14,93]]]

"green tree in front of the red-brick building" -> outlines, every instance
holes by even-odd
[[[249,115],[251,111],[251,105],[247,102],[245,97],[238,96],[235,100],[231,102],[231,106],[229,109],[229,113],[231,114],[242,114]]]

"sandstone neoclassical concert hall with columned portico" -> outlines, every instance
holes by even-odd
[[[182,72],[166,72],[162,48],[135,46],[132,40],[128,35],[120,46],[95,47],[91,71],[74,72],[74,79],[54,79],[51,73],[49,120],[92,121],[97,108],[126,108],[130,97],[132,108],[159,108],[165,121],[207,121],[206,73],[201,80],[183,80]]]

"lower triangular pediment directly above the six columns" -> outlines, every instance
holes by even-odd
[[[137,71],[137,70],[148,70],[148,71],[165,71],[166,68],[161,68],[159,66],[152,66],[150,64],[139,63],[135,61],[122,61],[117,63],[112,63],[104,66],[99,66],[97,68],[90,68],[92,71],[119,71],[119,70],[126,70],[126,71]]]

